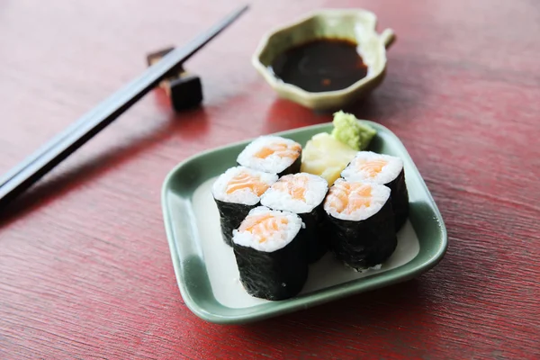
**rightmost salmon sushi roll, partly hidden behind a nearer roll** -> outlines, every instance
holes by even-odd
[[[343,170],[347,181],[383,184],[390,187],[394,224],[401,229],[409,216],[409,192],[405,184],[405,171],[400,157],[360,151]]]

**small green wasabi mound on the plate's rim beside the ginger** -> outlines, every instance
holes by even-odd
[[[332,137],[357,151],[365,150],[377,133],[371,126],[358,121],[352,113],[336,112],[332,123]]]

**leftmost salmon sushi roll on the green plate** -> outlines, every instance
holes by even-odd
[[[277,181],[277,175],[244,166],[231,167],[211,188],[220,211],[223,240],[232,246],[232,230],[237,229],[249,211],[257,207],[260,196]]]

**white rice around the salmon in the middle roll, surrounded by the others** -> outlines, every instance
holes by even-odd
[[[280,189],[280,186],[277,185],[284,182],[294,182],[294,179],[300,176],[306,176],[308,178],[308,184],[305,188],[306,191],[303,199],[293,198],[287,189]],[[263,194],[261,197],[261,205],[276,210],[293,211],[294,213],[311,212],[324,200],[328,190],[329,183],[318,175],[308,173],[284,175]]]

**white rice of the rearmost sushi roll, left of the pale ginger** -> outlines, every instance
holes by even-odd
[[[286,144],[288,147],[294,145],[300,146],[299,143],[292,139],[285,139],[279,136],[261,136],[253,140],[242,150],[237,158],[238,164],[256,170],[266,171],[267,173],[279,174],[283,172],[287,167],[293,165],[298,157],[281,157],[277,152],[265,158],[255,156],[258,151],[273,144]]]

